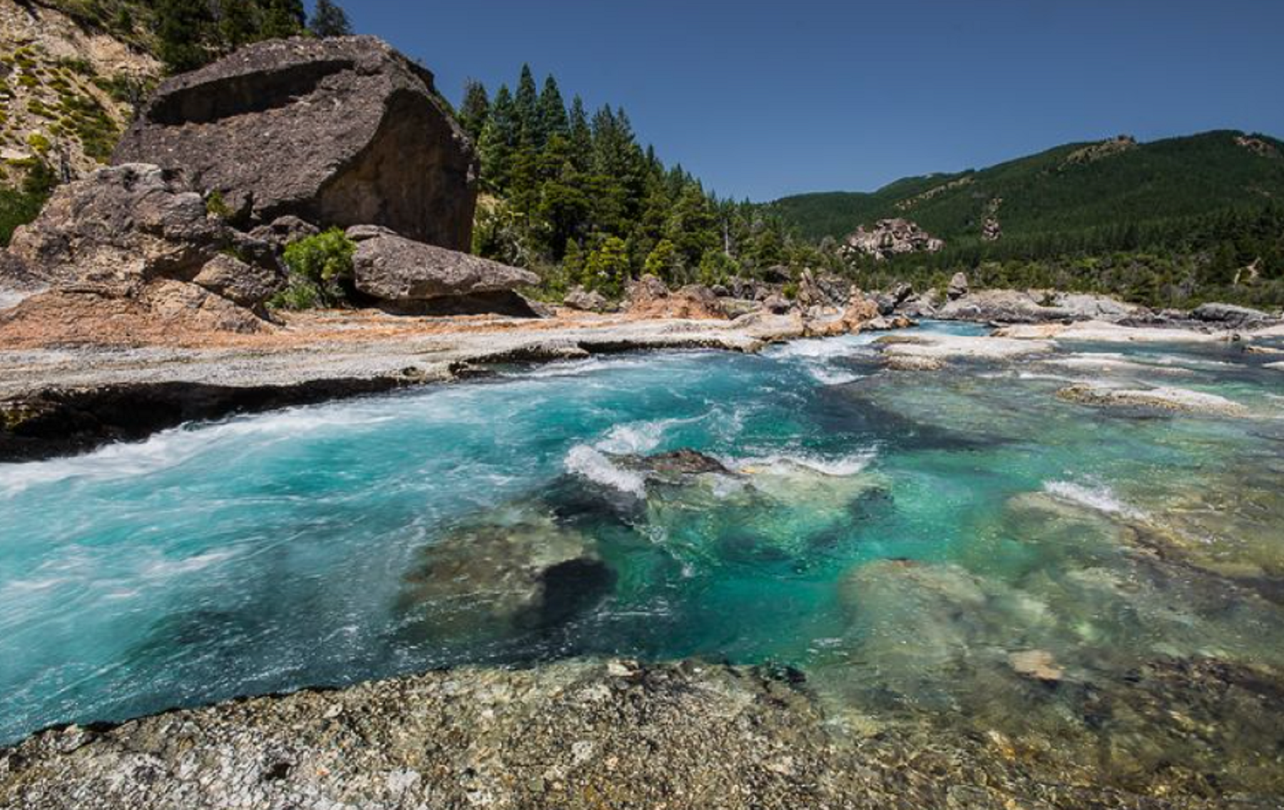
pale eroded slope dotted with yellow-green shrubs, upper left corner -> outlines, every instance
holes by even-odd
[[[64,177],[107,163],[159,76],[127,42],[39,3],[0,0],[0,182],[36,160]]]

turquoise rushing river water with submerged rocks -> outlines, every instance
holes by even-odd
[[[1174,345],[880,374],[869,340],[511,370],[0,466],[0,741],[449,664],[702,656],[800,668],[854,733],[1279,788],[1284,374]],[[1055,398],[1103,377],[1253,416]],[[682,448],[733,474],[627,458]]]

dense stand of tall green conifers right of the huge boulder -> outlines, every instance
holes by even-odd
[[[538,271],[550,294],[583,285],[615,297],[642,273],[719,284],[806,250],[782,220],[666,167],[624,109],[568,104],[530,65],[514,89],[469,82],[458,119],[482,162],[474,252]]]

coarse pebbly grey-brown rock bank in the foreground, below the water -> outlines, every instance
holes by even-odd
[[[698,662],[571,661],[53,729],[0,750],[0,806],[1230,806],[1094,784],[998,732],[845,732],[800,678]]]

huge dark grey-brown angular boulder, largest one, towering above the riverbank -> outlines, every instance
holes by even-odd
[[[113,162],[189,169],[247,226],[297,216],[471,241],[473,146],[433,74],[374,37],[259,42],[176,76]]]

